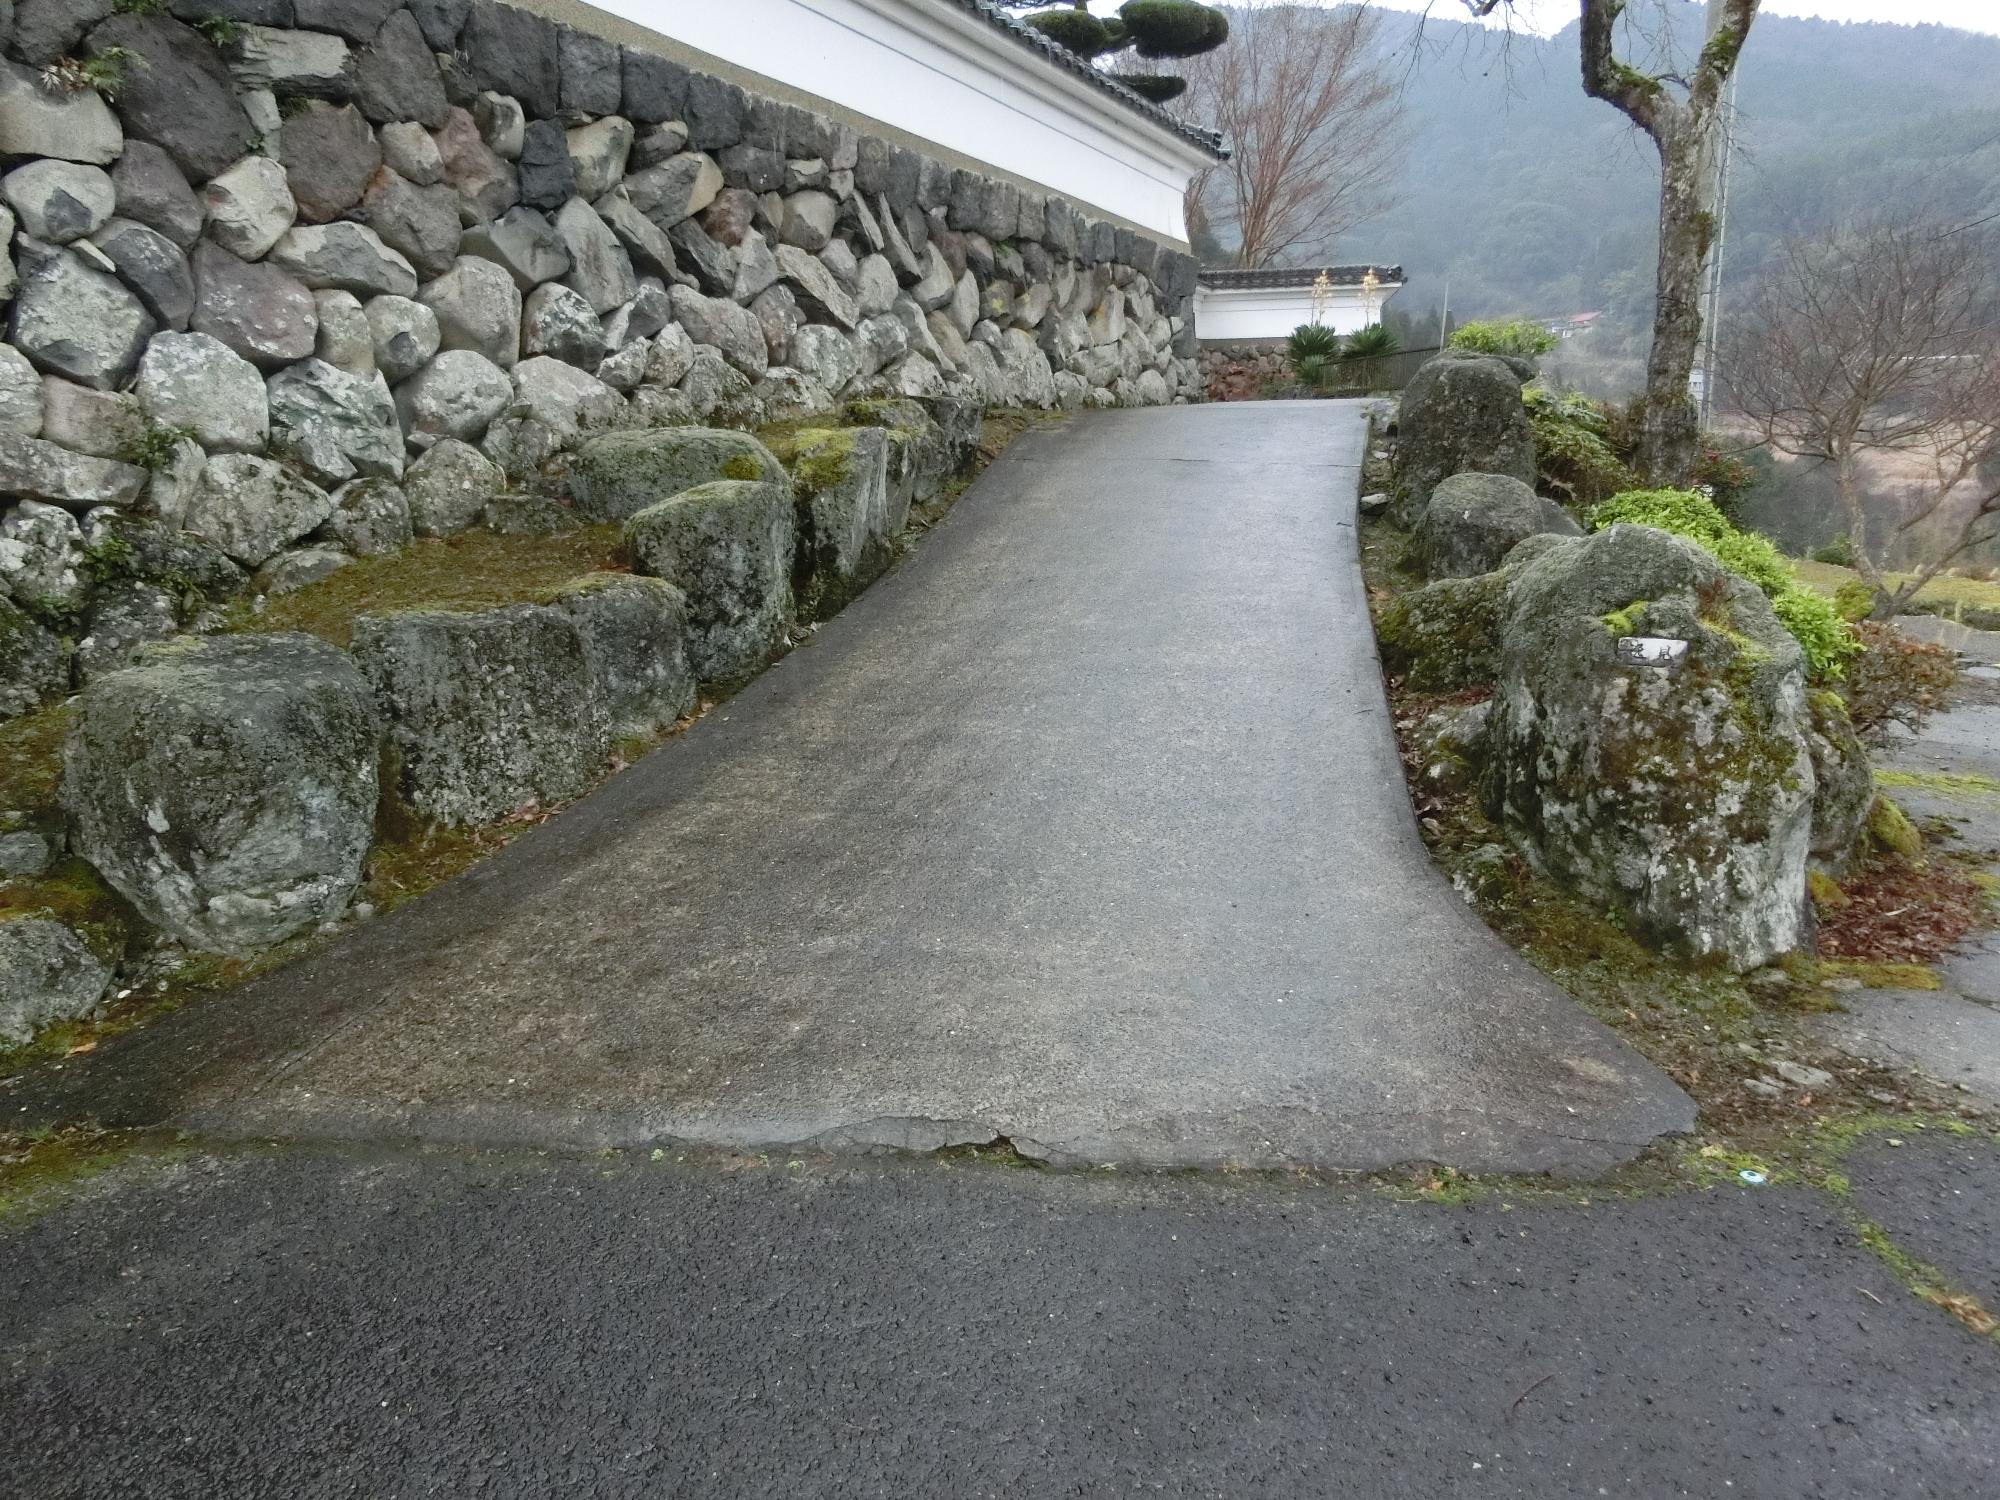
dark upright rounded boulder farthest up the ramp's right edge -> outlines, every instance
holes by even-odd
[[[1402,392],[1396,426],[1400,526],[1416,526],[1430,492],[1452,474],[1506,474],[1534,484],[1534,430],[1520,376],[1502,360],[1446,350]]]

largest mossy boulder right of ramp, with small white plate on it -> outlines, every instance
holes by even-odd
[[[1682,642],[1626,660],[1620,640]],[[1652,942],[1756,968],[1806,940],[1806,666],[1764,594],[1646,526],[1512,570],[1488,804],[1516,844]]]

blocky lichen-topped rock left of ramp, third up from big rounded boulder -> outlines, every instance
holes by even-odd
[[[646,506],[626,522],[638,572],[688,600],[688,666],[704,682],[750,676],[792,624],[790,484],[714,480]]]

